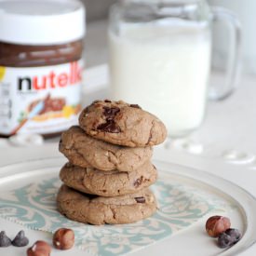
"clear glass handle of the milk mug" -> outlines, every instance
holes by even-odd
[[[240,58],[241,58],[241,26],[236,15],[228,9],[222,7],[211,7],[213,22],[226,22],[230,34],[230,44],[227,44],[229,51],[226,75],[223,84],[216,84],[209,87],[209,99],[214,101],[221,101],[228,97],[236,88],[237,76],[239,74]]]

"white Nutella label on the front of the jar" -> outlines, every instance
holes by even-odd
[[[77,123],[83,62],[0,66],[0,133],[49,134]]]

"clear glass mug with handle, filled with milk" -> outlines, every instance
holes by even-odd
[[[223,84],[209,87],[214,20],[227,22],[232,38]],[[138,103],[157,115],[170,137],[198,128],[208,98],[222,100],[235,88],[239,22],[205,0],[118,1],[108,34],[112,99]]]

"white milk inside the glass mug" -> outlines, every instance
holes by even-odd
[[[191,22],[123,25],[109,33],[111,93],[157,115],[170,136],[204,117],[210,65],[209,28]]]

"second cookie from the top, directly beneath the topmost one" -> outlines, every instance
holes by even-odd
[[[129,148],[94,139],[79,127],[61,134],[59,149],[72,164],[101,170],[134,171],[153,154],[151,147]]]

